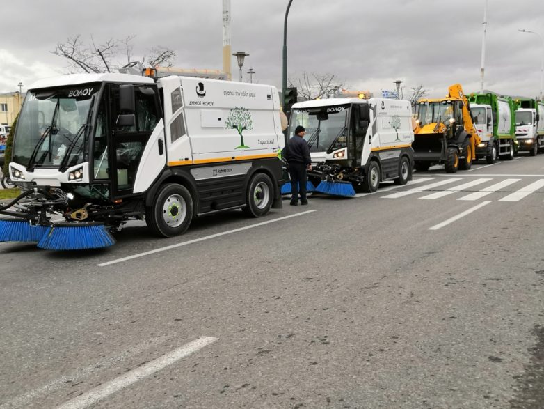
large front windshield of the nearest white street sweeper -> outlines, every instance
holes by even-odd
[[[13,139],[13,162],[29,167],[85,162],[91,101],[98,90],[86,85],[26,93]]]

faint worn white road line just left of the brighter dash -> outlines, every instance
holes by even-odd
[[[67,383],[78,383],[79,381],[90,376],[91,373],[95,373],[100,369],[107,368],[117,362],[121,362],[122,360],[127,359],[127,357],[143,353],[145,350],[148,350],[153,346],[162,344],[166,340],[166,338],[167,337],[163,336],[154,338],[150,341],[142,342],[137,346],[134,346],[134,348],[123,351],[122,353],[120,353],[120,355],[104,358],[102,360],[99,360],[92,366],[87,366],[86,368],[79,369],[79,371],[74,371],[72,373],[69,373],[68,375],[61,376],[61,378],[58,378],[53,382],[48,383],[47,385],[43,385],[42,387],[33,389],[24,395],[17,396],[11,401],[1,404],[0,409],[25,408],[27,406],[30,406],[31,402],[35,401],[35,399],[38,399],[40,396],[54,392],[57,389],[60,389],[62,386],[65,386]]]

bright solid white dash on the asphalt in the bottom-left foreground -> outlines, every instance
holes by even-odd
[[[89,392],[86,392],[81,396],[72,399],[71,401],[63,403],[63,405],[59,406],[58,409],[79,409],[95,405],[95,403],[102,401],[102,399],[107,398],[111,394],[114,394],[115,392],[118,392],[121,389],[132,385],[133,383],[138,382],[138,380],[150,376],[157,371],[161,371],[161,369],[166,368],[166,366],[174,364],[182,358],[195,353],[199,349],[204,348],[215,341],[217,341],[217,338],[214,337],[200,337],[195,339],[195,341],[191,341],[189,344],[185,344],[184,346],[179,347],[172,352],[157,358],[156,360],[147,362],[145,365],[133,369],[132,371],[128,371],[127,373],[124,373],[123,375],[118,376],[117,378],[112,379],[99,387],[95,387],[95,389],[91,389]]]

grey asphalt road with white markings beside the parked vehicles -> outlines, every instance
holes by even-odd
[[[542,408],[543,181],[522,155],[101,251],[0,243],[0,408]]]

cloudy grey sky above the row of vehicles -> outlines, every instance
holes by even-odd
[[[288,22],[288,75],[332,73],[351,89],[378,95],[401,79],[442,96],[460,82],[479,90],[485,0],[293,0]],[[231,0],[232,51],[245,51],[244,72],[280,88],[283,18],[288,0]],[[51,51],[81,35],[86,42],[136,35],[134,55],[161,45],[180,68],[222,68],[221,0],[20,0],[2,5],[0,92],[67,72]],[[487,89],[538,95],[544,38],[543,0],[489,0]],[[233,77],[237,64],[232,58]]]

